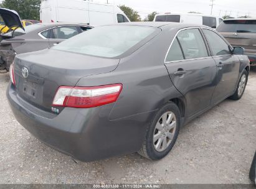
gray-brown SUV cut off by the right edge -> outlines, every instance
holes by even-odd
[[[227,19],[217,28],[233,46],[245,48],[251,66],[256,65],[256,18]]]

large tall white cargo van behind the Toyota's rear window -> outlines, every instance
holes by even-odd
[[[130,22],[118,6],[83,0],[43,0],[40,22],[73,22],[105,25]]]

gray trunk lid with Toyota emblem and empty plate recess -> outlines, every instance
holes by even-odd
[[[115,70],[118,63],[119,59],[52,49],[17,55],[14,65],[17,91],[37,108],[51,111],[59,86],[75,86],[80,78]]]

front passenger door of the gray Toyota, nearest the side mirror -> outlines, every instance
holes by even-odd
[[[216,88],[212,103],[216,104],[234,93],[239,78],[240,60],[231,53],[231,47],[214,30],[202,29],[217,65]]]

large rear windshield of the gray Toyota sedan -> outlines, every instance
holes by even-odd
[[[52,47],[55,50],[113,58],[153,34],[156,28],[136,25],[106,25],[76,35]]]

